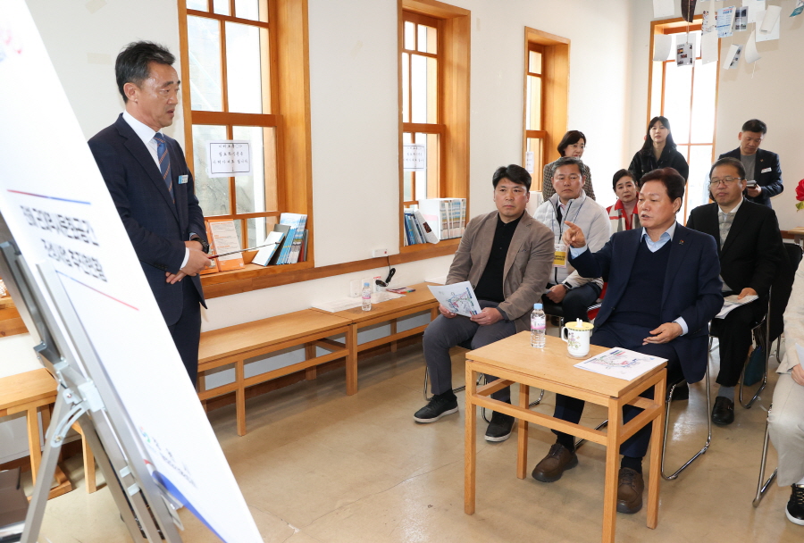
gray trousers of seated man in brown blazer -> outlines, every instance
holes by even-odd
[[[482,308],[499,305],[484,300],[479,302]],[[424,330],[423,338],[424,360],[427,362],[427,372],[430,373],[432,394],[443,394],[452,390],[452,360],[449,358],[449,349],[467,341],[471,348],[477,349],[513,336],[515,333],[516,325],[511,321],[500,320],[488,326],[481,326],[463,315],[456,315],[451,319],[444,315],[436,317]],[[489,380],[497,379],[488,377]],[[511,387],[498,390],[491,397],[510,403]]]

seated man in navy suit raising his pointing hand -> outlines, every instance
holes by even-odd
[[[587,250],[581,229],[567,221],[564,241],[570,260],[584,277],[608,281],[595,320],[593,345],[624,347],[667,360],[667,381],[701,380],[707,367],[708,322],[723,305],[715,239],[675,221],[684,196],[684,178],[673,168],[642,176],[639,213],[642,228],[616,232],[597,253]],[[642,394],[653,397],[652,388]],[[557,395],[553,416],[578,423],[583,401]],[[626,405],[624,422],[641,409]],[[554,430],[555,431],[555,430]],[[536,465],[533,478],[558,480],[578,464],[573,436],[558,436]],[[648,452],[650,425],[620,449],[617,511],[636,513],[642,506],[642,457]]]

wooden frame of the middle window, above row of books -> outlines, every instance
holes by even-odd
[[[422,21],[437,21],[439,57],[438,124],[402,121],[402,52],[405,24],[403,12]],[[460,238],[444,239],[437,244],[405,246],[405,172],[402,167],[403,134],[438,133],[440,135],[439,191],[441,196],[465,198],[469,209],[469,81],[471,49],[471,12],[437,0],[398,0],[398,99],[399,99],[399,253],[431,258],[455,252]],[[432,26],[431,22],[423,22]],[[426,54],[425,54],[426,56]],[[439,131],[434,131],[439,130]],[[451,248],[449,248],[451,247]],[[445,251],[447,251],[445,253]],[[416,258],[418,260],[419,258]]]

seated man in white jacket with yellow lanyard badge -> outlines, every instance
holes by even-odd
[[[561,240],[564,221],[578,224],[592,251],[599,251],[608,241],[611,227],[606,209],[586,196],[583,191],[583,163],[580,159],[563,157],[556,161],[553,188],[556,194],[536,209],[534,218],[553,232],[555,258],[550,279],[546,283],[543,301],[560,304],[565,322],[581,319],[589,321],[587,309],[593,305],[603,288],[600,278],[581,277],[566,259],[566,246]]]

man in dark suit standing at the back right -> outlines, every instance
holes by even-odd
[[[771,196],[782,194],[782,166],[779,164],[779,155],[760,149],[759,144],[765,139],[767,125],[758,119],[745,121],[742,131],[737,135],[740,146],[718,158],[736,158],[745,168],[745,179],[756,181],[756,187],[746,189],[749,202],[773,207]]]

